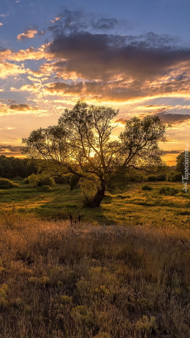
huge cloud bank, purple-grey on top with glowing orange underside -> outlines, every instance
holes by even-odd
[[[52,42],[44,48],[55,61],[40,66],[41,72],[56,74],[63,82],[81,81],[81,95],[97,100],[188,97],[190,48],[178,38],[153,32],[116,34],[117,19],[82,11],[65,10],[57,18],[49,27]],[[125,29],[129,25],[125,21]]]

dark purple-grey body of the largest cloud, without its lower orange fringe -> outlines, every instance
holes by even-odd
[[[78,77],[109,81],[120,75],[138,79],[142,85],[147,79],[166,75],[178,63],[189,61],[190,49],[166,47],[162,40],[164,37],[154,33],[136,41],[135,37],[113,34],[57,32],[48,50],[55,57],[66,59],[65,71],[76,72]],[[175,80],[180,81],[179,77]]]

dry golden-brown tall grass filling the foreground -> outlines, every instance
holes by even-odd
[[[190,337],[189,235],[1,217],[0,337]]]

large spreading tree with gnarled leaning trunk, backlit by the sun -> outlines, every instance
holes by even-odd
[[[53,163],[62,173],[70,172],[92,181],[97,192],[90,207],[99,207],[105,196],[109,174],[125,174],[130,168],[155,172],[164,151],[165,125],[159,116],[133,117],[116,140],[110,135],[117,125],[111,122],[119,111],[78,101],[65,109],[58,125],[33,130],[22,140],[21,153]],[[151,169],[150,169],[151,166]],[[79,170],[80,169],[80,170]],[[56,169],[57,170],[57,169]]]

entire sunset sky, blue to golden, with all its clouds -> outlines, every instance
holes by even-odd
[[[189,0],[7,0],[0,3],[0,154],[57,124],[78,99],[159,115],[174,165],[190,134]]]

